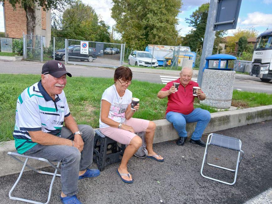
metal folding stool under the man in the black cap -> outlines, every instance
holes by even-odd
[[[23,168],[21,170],[21,173],[18,177],[18,179],[16,180],[16,182],[14,183],[14,185],[12,186],[11,190],[9,191],[9,199],[11,200],[17,200],[17,201],[24,201],[24,202],[29,202],[29,203],[35,203],[35,204],[47,204],[49,203],[50,201],[50,198],[51,198],[51,192],[52,192],[52,187],[53,187],[53,183],[54,183],[54,180],[56,178],[56,176],[61,176],[61,174],[57,174],[57,171],[61,171],[61,169],[59,169],[59,166],[60,166],[60,162],[58,162],[57,165],[54,165],[53,163],[51,163],[49,160],[45,159],[45,158],[39,158],[39,157],[32,157],[32,156],[27,156],[27,155],[23,155],[23,154],[19,154],[17,152],[8,152],[8,155],[10,157],[12,157],[13,159],[15,159],[16,161],[18,161],[19,163],[23,164]],[[24,157],[25,158],[25,161],[22,161],[20,160],[19,158],[17,157]],[[50,166],[52,166],[54,169],[55,169],[55,172],[54,173],[51,173],[51,172],[46,172],[46,171],[40,171],[40,170],[37,170],[35,169],[34,167],[30,166],[27,164],[28,160],[29,159],[36,159],[36,160],[39,160],[39,161],[44,161],[46,162],[47,164],[49,164]],[[48,174],[48,175],[52,175],[53,178],[51,180],[51,184],[50,184],[50,188],[49,188],[49,193],[48,193],[48,199],[47,199],[47,202],[45,203],[42,203],[42,202],[38,202],[38,201],[32,201],[32,200],[28,200],[28,199],[24,199],[24,198],[19,198],[19,197],[13,197],[11,196],[11,193],[12,191],[14,190],[15,186],[18,184],[19,180],[21,179],[22,177],[22,174],[24,172],[24,168],[25,167],[28,167],[29,169],[32,169],[33,171],[37,172],[37,173],[40,173],[40,174]]]

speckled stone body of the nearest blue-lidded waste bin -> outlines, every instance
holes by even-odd
[[[230,108],[235,80],[235,71],[205,69],[202,79],[202,91],[206,99],[200,104],[214,108]]]

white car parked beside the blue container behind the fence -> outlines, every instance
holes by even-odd
[[[150,52],[135,50],[132,51],[128,57],[128,65],[158,67],[158,61],[150,54]]]

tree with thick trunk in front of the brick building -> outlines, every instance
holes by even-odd
[[[20,8],[24,8],[26,16],[26,32],[29,35],[34,35],[36,26],[35,9],[38,9],[37,6],[40,6],[44,11],[48,11],[50,9],[59,10],[66,4],[71,3],[72,0],[0,0],[0,2],[3,3],[5,1],[9,2],[14,10],[16,10],[16,6],[18,5]]]

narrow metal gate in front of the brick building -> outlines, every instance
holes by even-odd
[[[42,36],[23,35],[24,59],[42,62]]]

